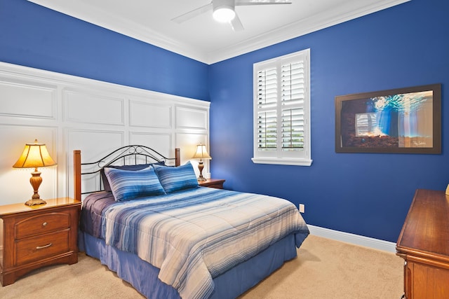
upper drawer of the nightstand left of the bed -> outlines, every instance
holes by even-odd
[[[15,223],[15,239],[22,239],[70,227],[69,213],[46,213]]]

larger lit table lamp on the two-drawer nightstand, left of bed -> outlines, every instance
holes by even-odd
[[[41,186],[42,178],[41,172],[37,170],[37,167],[47,167],[56,165],[50,154],[48,154],[45,144],[37,143],[37,139],[34,140],[34,144],[25,144],[22,155],[19,160],[13,165],[14,168],[34,168],[34,172],[31,173],[32,177],[29,179],[29,183],[34,189],[34,194],[31,200],[25,202],[28,206],[34,204],[46,204],[45,200],[41,200],[39,196],[39,186]]]

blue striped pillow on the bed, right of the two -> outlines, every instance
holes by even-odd
[[[166,193],[198,187],[198,181],[190,161],[178,167],[159,165],[154,165],[153,167]]]

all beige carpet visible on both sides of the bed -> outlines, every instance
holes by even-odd
[[[309,236],[290,260],[241,296],[304,299],[394,299],[403,293],[403,260],[386,253]],[[143,298],[98,260],[79,253],[75,265],[31,272],[0,288],[2,299]]]

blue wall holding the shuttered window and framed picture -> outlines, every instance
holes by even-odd
[[[448,13],[448,1],[413,0],[211,65],[213,176],[304,203],[309,224],[396,242],[415,189],[449,183]],[[253,63],[305,48],[314,162],[253,164]],[[443,86],[442,155],[335,153],[335,96],[431,83]]]

